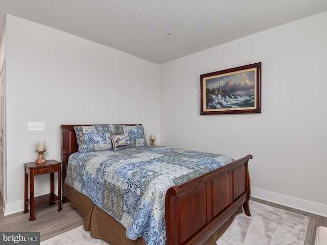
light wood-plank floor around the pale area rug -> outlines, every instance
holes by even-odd
[[[316,214],[285,207],[256,198],[251,198],[251,200],[310,217],[304,245],[314,244],[317,227],[327,227],[327,217],[322,217]],[[40,232],[41,241],[83,225],[83,218],[74,208],[71,207],[69,203],[62,204],[62,210],[60,212],[57,211],[57,203],[55,205],[44,205],[37,207],[35,208],[36,220],[33,221],[29,221],[30,212],[19,212],[4,216],[2,207],[3,199],[0,195],[0,231]]]

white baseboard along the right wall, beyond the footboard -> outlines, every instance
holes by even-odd
[[[327,217],[327,205],[321,203],[289,197],[288,195],[278,194],[258,188],[251,188],[251,197]]]

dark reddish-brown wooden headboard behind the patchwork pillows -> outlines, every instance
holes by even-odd
[[[100,125],[100,124],[87,124],[87,125],[61,125],[61,133],[62,133],[62,155],[61,155],[61,186],[63,187],[64,181],[66,178],[66,169],[68,163],[68,157],[73,153],[78,151],[78,144],[76,139],[76,133],[74,130],[75,126],[92,126],[92,125]],[[102,125],[109,125],[109,124],[102,124]],[[134,125],[142,125],[142,124],[116,124],[116,125],[127,125],[127,126],[134,126]],[[65,193],[62,190],[62,202],[68,202],[68,199],[65,197]]]

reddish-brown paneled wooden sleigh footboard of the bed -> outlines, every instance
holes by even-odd
[[[203,244],[241,205],[251,215],[249,159],[251,155],[168,190],[167,244]]]

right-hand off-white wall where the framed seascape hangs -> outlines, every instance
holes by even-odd
[[[325,23],[327,12],[162,64],[161,144],[252,154],[253,196],[327,216]],[[200,115],[201,74],[256,62],[261,114]]]

